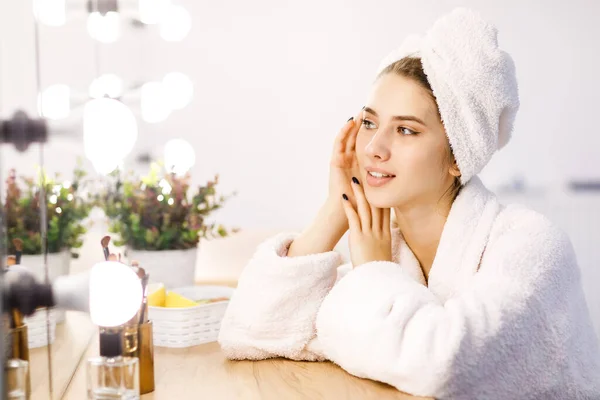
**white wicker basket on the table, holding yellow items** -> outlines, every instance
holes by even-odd
[[[191,300],[201,300],[231,298],[234,289],[227,286],[190,286],[172,291]],[[154,345],[191,347],[216,341],[228,304],[228,301],[220,301],[187,308],[149,307],[148,317],[153,324]]]

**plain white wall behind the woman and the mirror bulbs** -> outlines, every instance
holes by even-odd
[[[522,176],[557,188],[600,175],[598,1],[179,3],[194,19],[185,41],[165,43],[153,28],[127,28],[122,41],[100,47],[100,70],[136,80],[176,69],[193,78],[191,106],[165,123],[141,124],[136,151],[159,154],[168,138],[189,140],[197,152],[195,179],[219,172],[222,189],[239,192],[218,215],[227,224],[303,227],[326,195],[331,141],[363,105],[380,58],[459,5],[498,27],[520,83],[514,140],[486,168],[484,181],[496,187]],[[17,106],[35,108],[33,21],[27,1],[0,4],[0,112],[6,115]],[[41,31],[44,86],[64,82],[85,91],[94,76],[94,45],[75,14],[66,27]],[[47,165],[68,171],[82,153],[77,137],[80,130],[72,139],[54,139]],[[6,146],[0,156],[5,168],[21,170],[37,159],[33,150],[17,157]],[[580,257],[597,269],[600,255],[589,251]]]

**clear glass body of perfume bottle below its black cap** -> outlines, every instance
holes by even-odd
[[[139,400],[136,357],[92,357],[87,361],[88,400]]]

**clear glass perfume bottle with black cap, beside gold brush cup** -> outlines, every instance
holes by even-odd
[[[87,361],[88,400],[139,400],[139,360],[123,357],[122,343],[120,330],[101,329],[100,356]]]

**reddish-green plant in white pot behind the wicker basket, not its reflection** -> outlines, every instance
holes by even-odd
[[[218,175],[192,188],[189,173],[178,176],[153,163],[142,178],[119,170],[108,178],[98,205],[109,219],[109,231],[118,236],[115,245],[125,246],[128,259],[138,261],[151,282],[167,288],[193,285],[200,239],[235,231],[207,222],[228,198],[217,196]]]

